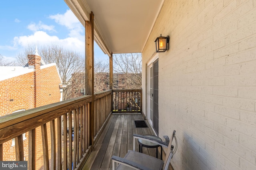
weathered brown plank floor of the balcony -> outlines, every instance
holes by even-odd
[[[127,150],[132,150],[133,134],[154,135],[147,121],[147,128],[136,128],[134,120],[144,120],[144,117],[141,113],[112,114],[82,169],[112,170],[111,156],[124,157]],[[138,143],[136,150],[138,151]],[[143,148],[143,153],[156,156],[156,149]],[[160,156],[159,152],[158,156]]]

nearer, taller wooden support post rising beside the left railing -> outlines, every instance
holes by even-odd
[[[90,145],[94,145],[94,14],[90,21],[85,21],[85,91],[92,95],[90,103]]]

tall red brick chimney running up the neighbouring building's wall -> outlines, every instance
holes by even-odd
[[[41,57],[37,52],[35,55],[28,55],[28,68],[34,68],[34,107],[38,107],[40,99],[40,62]]]

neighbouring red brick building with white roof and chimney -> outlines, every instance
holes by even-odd
[[[62,81],[56,64],[44,64],[38,55],[28,55],[28,64],[24,67],[0,66],[0,116],[60,102],[61,93]],[[24,156],[28,160],[28,133],[23,135],[23,140]],[[3,160],[15,160],[14,140],[4,143],[3,147],[6,148]],[[41,129],[37,128],[36,169],[43,164],[41,148]]]

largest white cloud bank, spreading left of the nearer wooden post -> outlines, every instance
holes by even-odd
[[[36,44],[38,47],[42,45],[57,44],[62,46],[64,49],[76,51],[81,55],[84,55],[84,28],[76,16],[71,10],[67,10],[64,14],[51,15],[50,19],[54,20],[56,24],[63,25],[69,31],[68,35],[60,39],[52,32],[56,32],[54,25],[46,25],[42,21],[38,23],[30,23],[27,29],[33,31],[33,33],[23,36],[16,36],[13,39],[13,46],[0,46],[0,49],[10,51],[23,51],[28,45]],[[18,21],[18,20],[17,20]],[[63,29],[63,32],[66,32]],[[58,30],[58,35],[62,33],[62,30]],[[51,32],[51,35],[48,34]]]

